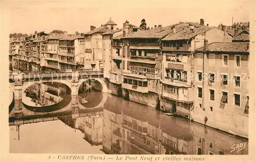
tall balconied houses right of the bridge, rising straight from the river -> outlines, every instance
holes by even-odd
[[[130,28],[102,34],[112,94],[248,137],[248,30],[231,35],[202,19]]]

